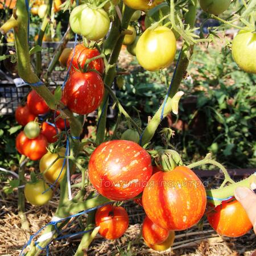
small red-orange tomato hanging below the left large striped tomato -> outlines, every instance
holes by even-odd
[[[129,225],[128,214],[123,207],[111,204],[98,208],[95,214],[95,224],[100,226],[98,233],[110,240],[117,239],[126,232]]]

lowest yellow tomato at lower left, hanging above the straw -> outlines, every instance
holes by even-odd
[[[38,180],[35,183],[26,183],[24,187],[24,195],[27,201],[32,205],[44,205],[52,199],[52,189],[43,193],[49,186],[43,181]]]

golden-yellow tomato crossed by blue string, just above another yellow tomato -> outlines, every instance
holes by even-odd
[[[65,156],[65,150],[66,150],[65,148],[60,148],[59,155]],[[55,180],[57,180],[57,177],[59,177],[58,181],[63,179],[65,172],[67,170],[67,165],[66,164],[64,165],[64,158],[60,158],[56,160],[57,157],[58,157],[57,153],[53,154],[51,152],[48,152],[41,158],[39,162],[39,170],[41,173],[43,173],[48,169],[48,171],[44,173],[44,178],[49,183],[54,183]]]

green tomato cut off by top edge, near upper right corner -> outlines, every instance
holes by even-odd
[[[230,6],[231,0],[200,0],[201,9],[209,14],[221,14]]]

